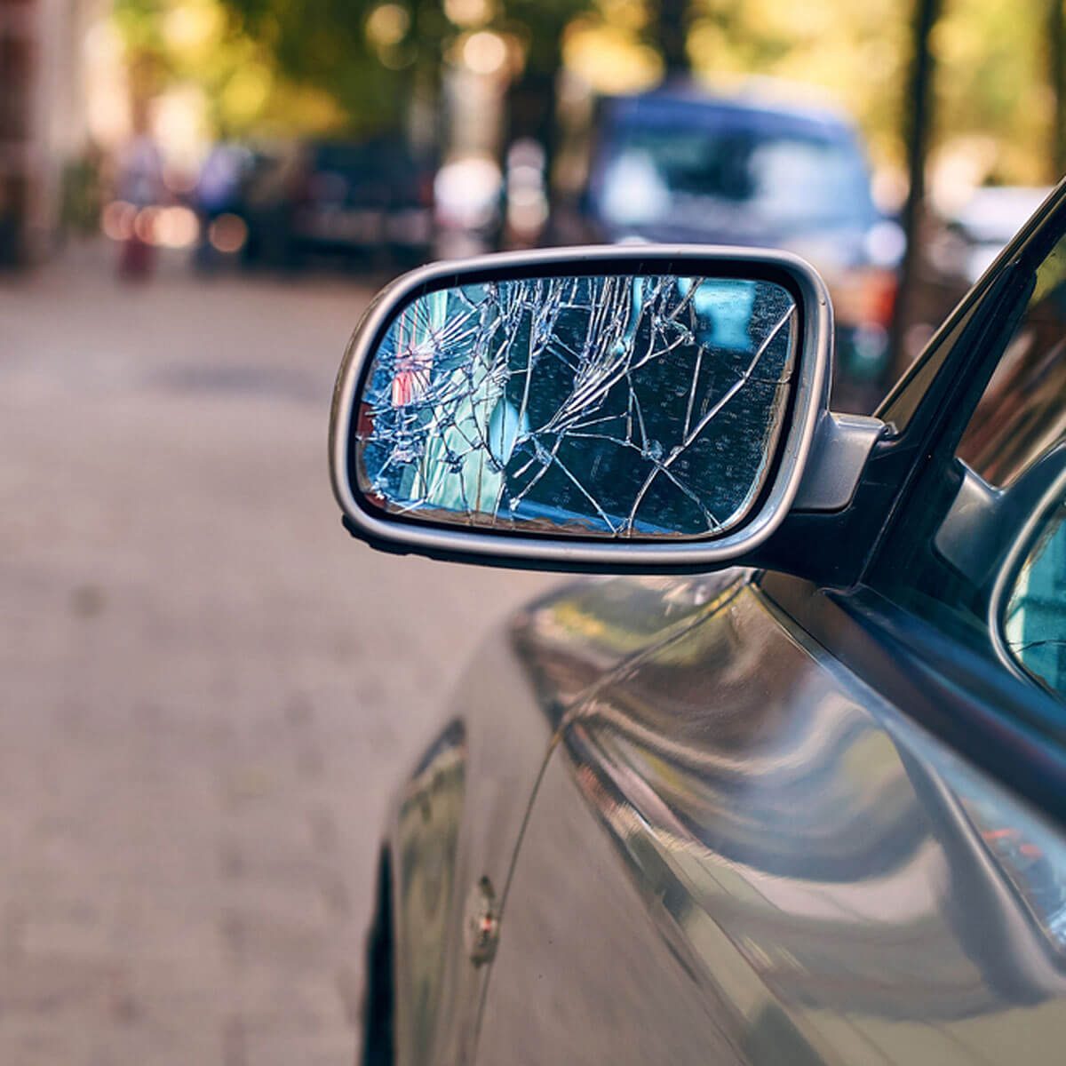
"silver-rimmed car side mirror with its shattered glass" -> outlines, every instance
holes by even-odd
[[[345,524],[391,551],[546,569],[740,561],[793,504],[820,425],[839,437],[831,336],[821,279],[779,253],[552,249],[415,271],[341,366]]]

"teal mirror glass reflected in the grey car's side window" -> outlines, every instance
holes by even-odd
[[[1018,571],[1003,612],[1007,650],[1066,697],[1066,504],[1060,504]]]

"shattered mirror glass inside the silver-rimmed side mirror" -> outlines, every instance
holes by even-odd
[[[659,539],[726,533],[765,487],[796,366],[781,286],[532,277],[413,300],[356,419],[358,487],[414,519]]]

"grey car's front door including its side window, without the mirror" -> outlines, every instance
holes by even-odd
[[[859,580],[738,582],[570,708],[480,1063],[1060,1060],[1062,214],[883,408]]]

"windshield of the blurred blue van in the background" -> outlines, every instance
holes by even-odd
[[[620,225],[680,221],[698,207],[736,225],[802,231],[861,225],[869,181],[851,145],[802,133],[758,134],[698,127],[630,126],[603,171],[601,206]]]

